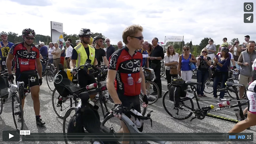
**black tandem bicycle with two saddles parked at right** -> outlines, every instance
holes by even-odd
[[[174,104],[168,103],[168,104],[166,104],[165,98],[168,97],[167,94],[169,94],[169,92],[167,91],[167,92],[164,93],[164,96],[163,96],[164,109],[173,118],[175,118],[177,120],[185,120],[187,118],[190,118],[190,116],[192,116],[192,114],[195,114],[195,117],[193,117],[190,121],[194,120],[195,118],[198,118],[199,120],[202,120],[207,116],[207,117],[210,117],[210,118],[223,120],[223,121],[226,121],[226,122],[232,122],[232,123],[236,124],[236,123],[240,122],[240,120],[234,120],[232,118],[226,118],[226,117],[223,117],[223,116],[217,116],[217,115],[214,115],[214,114],[209,114],[209,112],[216,112],[216,111],[220,111],[220,110],[226,110],[226,109],[229,109],[229,108],[239,107],[239,111],[240,111],[239,114],[240,114],[241,120],[245,119],[243,111],[242,111],[242,106],[247,105],[248,100],[240,100],[239,96],[238,96],[237,88],[236,88],[236,86],[243,86],[242,84],[226,82],[225,83],[226,88],[220,89],[220,91],[229,90],[229,91],[232,91],[232,92],[236,93],[236,100],[234,100],[234,99],[224,99],[224,98],[223,99],[198,98],[198,96],[196,94],[196,86],[195,86],[198,83],[197,82],[186,81],[186,84],[191,86],[192,93],[187,92],[186,97],[181,98],[180,102],[178,102],[178,103],[174,103]],[[230,89],[230,87],[232,87],[232,89]],[[194,103],[192,101],[193,98],[196,99],[196,104],[198,106],[198,108],[196,108],[196,109],[194,108]],[[199,102],[198,102],[200,100],[237,101],[237,104],[228,105],[228,106],[224,106],[222,108],[217,108],[217,109],[209,108],[209,106],[200,108],[200,105],[199,105]],[[241,103],[240,101],[243,102],[243,103]],[[185,104],[185,102],[187,104]],[[190,104],[190,106],[188,106],[188,104]],[[175,110],[176,112],[169,112],[167,110],[167,106],[171,107],[171,109]],[[178,117],[178,116],[180,116],[179,115],[180,110],[184,110],[184,112],[188,112],[188,113],[186,114],[186,116]]]

